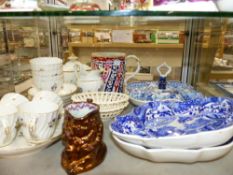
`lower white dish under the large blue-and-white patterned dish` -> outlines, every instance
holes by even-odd
[[[201,149],[175,149],[175,148],[145,148],[143,146],[125,142],[113,135],[116,143],[129,154],[152,162],[180,162],[194,163],[219,159],[229,153],[233,147],[233,140],[227,143]]]

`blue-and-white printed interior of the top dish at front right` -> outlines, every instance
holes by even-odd
[[[165,137],[195,134],[233,125],[233,99],[197,98],[185,102],[149,102],[117,116],[111,128],[122,134]]]

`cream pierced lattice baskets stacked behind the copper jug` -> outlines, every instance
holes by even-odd
[[[129,104],[129,96],[117,92],[83,92],[71,96],[73,102],[87,101],[100,106],[102,120],[114,118],[119,115]]]

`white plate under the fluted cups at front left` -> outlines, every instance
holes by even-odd
[[[0,158],[21,157],[40,152],[41,150],[59,140],[61,133],[62,127],[59,124],[54,132],[53,137],[43,143],[33,144],[28,143],[19,131],[15,140],[10,145],[0,148]]]

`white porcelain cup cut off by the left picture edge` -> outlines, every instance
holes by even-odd
[[[12,143],[17,130],[17,108],[14,105],[0,104],[0,147]]]

